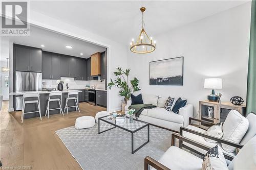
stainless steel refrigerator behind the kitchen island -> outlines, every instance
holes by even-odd
[[[16,71],[15,91],[38,91],[42,89],[41,72]],[[23,95],[16,95],[15,110],[22,110]]]

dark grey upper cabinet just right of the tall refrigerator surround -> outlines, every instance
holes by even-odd
[[[60,79],[60,60],[55,53],[42,53],[42,79]]]

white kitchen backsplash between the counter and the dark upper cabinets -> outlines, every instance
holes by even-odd
[[[70,89],[84,89],[86,85],[95,86],[96,89],[105,89],[105,80],[90,80],[90,81],[81,81],[74,80],[74,78],[65,78],[62,77],[61,80],[64,81],[63,89],[66,89],[66,83],[69,84]],[[42,79],[42,87],[44,88],[57,88],[57,80],[48,80]]]

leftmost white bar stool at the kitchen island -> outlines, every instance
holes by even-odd
[[[26,101],[26,98],[38,98],[38,99],[37,100],[27,100]],[[25,112],[26,104],[32,104],[32,103],[37,104],[38,111]],[[22,117],[20,118],[20,120],[22,120],[22,124],[23,124],[24,114],[35,113],[35,112],[39,112],[40,120],[42,120],[39,93],[38,92],[24,93],[23,94],[23,105],[22,105]]]

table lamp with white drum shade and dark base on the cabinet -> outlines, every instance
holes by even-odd
[[[211,94],[207,95],[210,102],[218,102],[219,96],[215,94],[215,89],[222,89],[221,78],[206,78],[204,79],[204,88],[211,89]]]

